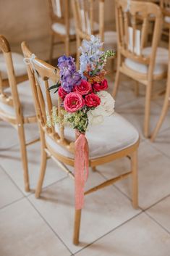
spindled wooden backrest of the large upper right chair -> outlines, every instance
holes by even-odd
[[[150,16],[153,22],[151,52],[148,57],[143,54],[147,37]],[[161,33],[162,15],[158,5],[150,2],[116,0],[116,30],[118,49],[124,57],[150,65],[153,72],[156,48]]]

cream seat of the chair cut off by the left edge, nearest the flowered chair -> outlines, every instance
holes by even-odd
[[[33,95],[30,88],[30,82],[29,80],[26,80],[22,83],[17,84],[17,90],[20,97],[20,102],[22,105],[22,114],[25,117],[33,117],[35,116],[35,108],[33,104]],[[11,88],[7,88],[4,90],[5,94],[7,96],[11,95]],[[0,102],[0,110],[3,110],[7,113],[7,115],[10,115],[12,117],[15,116],[14,107],[9,106],[7,104],[4,104],[3,102]]]

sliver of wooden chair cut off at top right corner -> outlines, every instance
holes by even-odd
[[[167,29],[170,28],[170,1],[169,0],[160,0],[160,7],[163,14],[163,34],[169,36]]]

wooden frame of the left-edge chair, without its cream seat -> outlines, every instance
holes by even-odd
[[[19,141],[20,141],[20,152],[21,152],[22,167],[24,172],[23,174],[24,174],[25,191],[30,191],[28,168],[27,168],[26,146],[33,144],[39,139],[26,143],[24,124],[36,123],[37,120],[36,120],[36,116],[24,117],[22,115],[22,106],[20,104],[20,97],[17,91],[17,80],[14,76],[12,54],[11,54],[9,43],[7,39],[4,38],[4,36],[0,36],[0,49],[4,54],[4,59],[7,65],[9,86],[12,91],[11,96],[7,96],[7,94],[5,94],[3,80],[1,79],[1,75],[0,75],[0,101],[3,102],[4,104],[9,105],[10,107],[14,107],[14,110],[15,110],[15,116],[13,117],[0,109],[0,118],[4,121],[7,121],[7,123],[10,123],[17,130]]]

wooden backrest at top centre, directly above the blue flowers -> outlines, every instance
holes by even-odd
[[[89,39],[94,33],[99,33],[99,26],[96,29],[96,9],[94,12],[95,0],[72,0],[72,10],[75,18],[75,26],[81,39]],[[98,1],[99,3],[103,0]],[[99,5],[100,6],[100,5]],[[97,6],[96,6],[97,7]],[[101,12],[102,13],[102,12]],[[99,8],[100,14],[100,8]],[[100,21],[101,19],[98,18]],[[98,22],[99,22],[98,21]],[[103,19],[102,19],[103,21]],[[99,23],[98,23],[99,24]],[[101,36],[103,38],[103,36]]]

